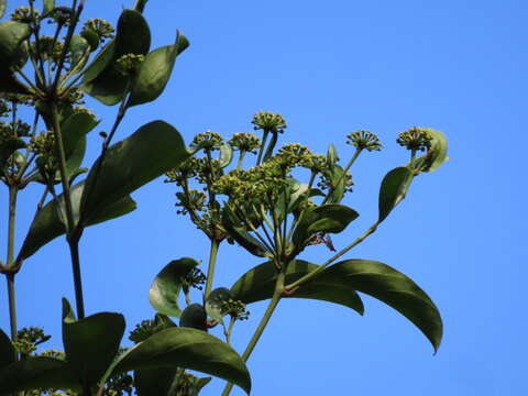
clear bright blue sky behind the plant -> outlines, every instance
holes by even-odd
[[[9,11],[22,4],[10,1]],[[116,23],[121,6],[132,1],[87,1],[85,18]],[[338,249],[375,220],[380,182],[407,162],[398,132],[431,127],[449,139],[451,160],[415,180],[378,231],[346,255],[395,266],[431,296],[444,321],[438,354],[404,317],[366,296],[364,317],[342,306],[283,300],[249,362],[253,395],[528,393],[526,1],[152,0],[145,15],[153,46],[172,43],[176,28],[191,46],[164,95],[132,108],[118,139],[155,119],[173,123],[187,143],[206,129],[230,135],[250,131],[258,110],[286,118],[283,143],[326,152],[333,142],[342,158],[352,154],[344,145],[352,130],[381,136],[385,150],[354,165],[355,193],[346,204],[361,217],[334,238]],[[90,106],[108,129],[117,109]],[[99,145],[94,132],[87,166]],[[134,194],[135,212],[85,232],[88,314],[123,312],[130,330],[154,314],[147,290],[166,263],[207,260],[207,240],[175,213],[174,193],[160,178]],[[19,246],[36,196],[33,188],[21,194]],[[315,246],[306,257],[320,263],[328,253]],[[215,286],[231,286],[257,263],[222,245]],[[59,346],[61,297],[74,300],[64,240],[30,258],[16,279],[20,326],[45,327],[54,336],[50,346]],[[7,331],[8,306],[0,300]],[[251,320],[233,336],[239,351],[264,304],[250,309]],[[218,395],[222,386],[216,380],[202,394]]]

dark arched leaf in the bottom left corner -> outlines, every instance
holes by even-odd
[[[78,389],[69,364],[53,358],[26,358],[0,371],[0,396],[35,388]]]

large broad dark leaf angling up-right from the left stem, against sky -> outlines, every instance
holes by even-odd
[[[82,218],[90,221],[108,207],[185,161],[189,154],[179,132],[164,121],[153,121],[107,151],[86,178]],[[97,176],[96,176],[97,175]]]

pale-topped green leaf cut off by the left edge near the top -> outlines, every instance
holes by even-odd
[[[7,21],[0,23],[0,68],[8,69],[20,61],[21,44],[31,34],[28,23]],[[2,76],[3,78],[3,76]]]

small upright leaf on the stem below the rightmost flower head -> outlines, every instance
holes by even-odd
[[[413,182],[413,173],[406,166],[400,166],[388,172],[380,187],[380,218],[382,222],[391,211],[399,204]]]

